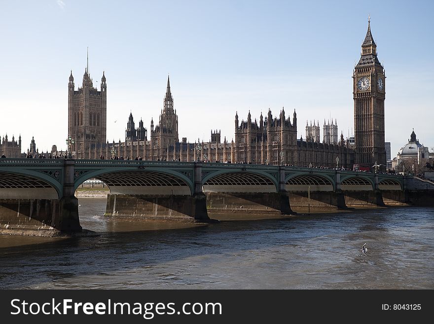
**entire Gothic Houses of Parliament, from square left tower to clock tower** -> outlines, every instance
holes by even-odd
[[[125,140],[109,143],[107,130],[107,83],[103,72],[101,87],[93,86],[88,68],[82,85],[74,88],[74,78],[68,84],[68,132],[75,139],[73,158],[99,159],[112,156],[124,159],[141,157],[143,160],[196,161],[286,164],[296,166],[353,168],[355,163],[372,166],[386,164],[384,147],[385,72],[377,58],[376,44],[371,34],[370,21],[362,42],[361,57],[353,71],[355,141],[345,141],[337,133],[337,122],[324,124],[321,141],[320,127],[306,125],[305,138],[297,139],[297,114],[288,115],[282,108],[278,115],[269,109],[252,118],[250,111],[240,121],[234,120],[234,140],[223,141],[220,132],[211,132],[208,142],[187,142],[179,138],[178,115],[167,79],[166,94],[158,121],[151,119],[150,128],[143,120],[136,128],[130,113]]]

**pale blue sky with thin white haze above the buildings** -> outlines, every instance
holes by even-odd
[[[392,157],[414,128],[434,147],[434,1],[0,0],[0,136],[65,150],[68,78],[107,77],[107,139],[125,139],[130,111],[158,122],[170,74],[179,136],[234,138],[234,118],[270,108],[336,119],[354,132],[353,68],[368,15],[386,71]],[[98,82],[97,82],[98,81]],[[149,138],[148,138],[149,139]]]

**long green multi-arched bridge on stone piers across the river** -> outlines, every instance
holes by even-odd
[[[88,179],[109,187],[108,216],[196,221],[207,221],[215,213],[290,215],[291,206],[405,204],[412,203],[412,191],[434,188],[433,182],[414,177],[332,169],[8,158],[0,160],[1,232],[81,231],[74,192]]]

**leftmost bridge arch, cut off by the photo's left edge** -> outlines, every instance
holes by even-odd
[[[0,198],[62,198],[63,184],[61,183],[61,172],[59,170],[46,172],[43,173],[37,170],[10,170],[10,168],[2,170],[0,168]],[[53,176],[50,175],[50,172]],[[59,181],[56,179],[59,179]]]

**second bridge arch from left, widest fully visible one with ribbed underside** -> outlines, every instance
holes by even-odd
[[[82,171],[82,170],[81,170]],[[107,184],[112,194],[133,195],[192,195],[193,183],[174,170],[122,168],[121,170],[97,169],[81,173],[76,170],[74,190],[85,180],[95,178]]]

